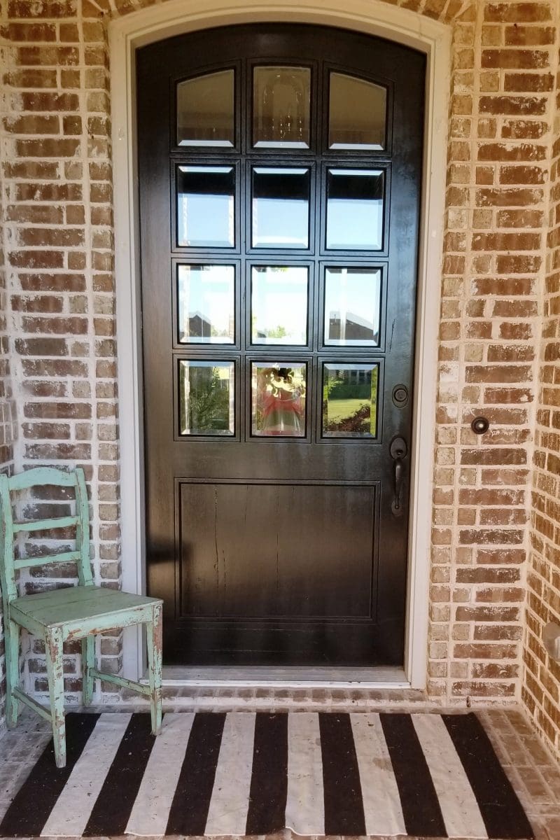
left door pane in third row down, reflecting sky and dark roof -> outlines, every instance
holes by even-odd
[[[177,300],[181,344],[233,344],[233,265],[180,265]]]

